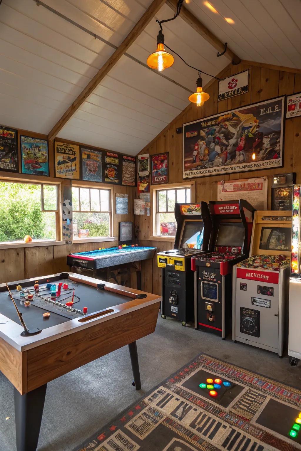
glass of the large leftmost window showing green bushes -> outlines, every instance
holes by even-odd
[[[56,240],[57,185],[0,180],[0,242]]]

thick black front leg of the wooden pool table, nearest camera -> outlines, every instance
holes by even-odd
[[[47,384],[20,395],[14,388],[17,451],[36,451]]]

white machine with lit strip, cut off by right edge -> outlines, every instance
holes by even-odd
[[[301,185],[293,185],[292,255],[289,285],[288,360],[296,366],[301,359]]]

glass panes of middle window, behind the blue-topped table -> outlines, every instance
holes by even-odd
[[[72,187],[73,238],[111,236],[109,189]]]

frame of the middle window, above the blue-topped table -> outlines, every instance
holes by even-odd
[[[113,202],[113,196],[112,196],[112,188],[109,188],[107,186],[101,186],[98,187],[96,185],[90,185],[90,184],[78,184],[78,183],[72,183],[71,185],[71,190],[73,188],[78,188],[79,189],[79,210],[73,210],[72,208],[72,214],[73,213],[109,213],[109,233],[110,235],[108,236],[95,236],[95,237],[86,237],[86,238],[74,238],[74,236],[72,236],[72,242],[74,244],[76,243],[84,243],[84,242],[100,242],[100,241],[113,241],[116,240],[116,238],[113,236],[113,217],[112,217],[112,202]],[[80,189],[88,189],[89,190],[89,205],[90,205],[90,210],[81,210],[81,206],[80,206]],[[99,191],[99,208],[100,211],[93,211],[91,210],[91,193],[90,190],[91,189],[98,189]],[[100,193],[101,191],[108,191],[108,211],[102,211],[101,210],[101,197],[100,197]],[[72,201],[72,206],[73,206],[73,201]]]

